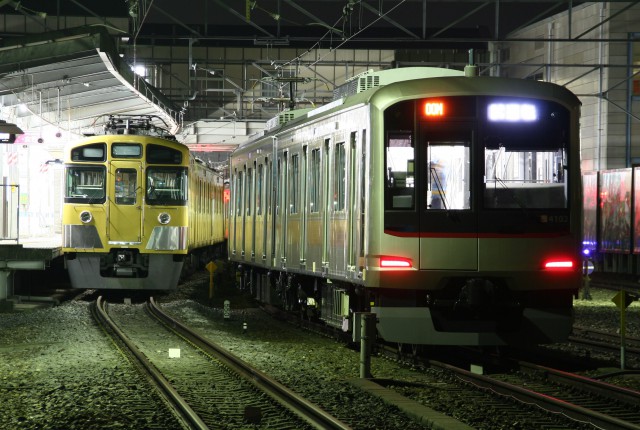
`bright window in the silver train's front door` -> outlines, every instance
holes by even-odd
[[[445,138],[446,139],[446,138]],[[470,142],[427,141],[428,210],[471,208]]]

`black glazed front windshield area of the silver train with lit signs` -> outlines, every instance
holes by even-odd
[[[569,130],[569,111],[543,100],[464,96],[391,106],[386,228],[419,229],[410,216],[416,212],[456,211],[461,219],[465,212],[566,210]]]

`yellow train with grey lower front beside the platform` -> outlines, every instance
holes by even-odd
[[[153,125],[111,116],[68,148],[63,251],[74,288],[168,290],[225,252],[224,176]]]

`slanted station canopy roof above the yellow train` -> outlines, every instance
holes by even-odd
[[[95,132],[109,115],[153,115],[172,133],[179,110],[118,55],[104,26],[5,38],[0,43],[0,118],[29,117],[74,134]]]

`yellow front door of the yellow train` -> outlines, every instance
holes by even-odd
[[[137,245],[142,240],[142,164],[112,161],[109,166],[107,231],[109,244]]]

